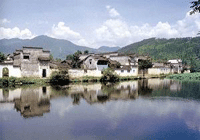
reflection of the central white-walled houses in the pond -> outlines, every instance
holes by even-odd
[[[70,85],[68,93],[73,98],[81,95],[79,97],[84,98],[89,104],[135,99],[138,97],[138,81],[121,82],[117,85]]]

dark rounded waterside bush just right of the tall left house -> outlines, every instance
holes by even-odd
[[[66,71],[54,71],[50,77],[50,83],[54,85],[65,85],[69,83],[69,76]]]

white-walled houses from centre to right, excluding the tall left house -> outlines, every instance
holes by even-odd
[[[119,76],[152,76],[169,73],[181,73],[182,60],[168,60],[165,63],[151,63],[149,56],[121,55],[118,52],[101,54],[83,54],[80,56],[81,69],[69,69],[70,77],[102,76],[102,70],[108,67],[114,69]],[[150,63],[148,68],[142,68],[143,63]]]

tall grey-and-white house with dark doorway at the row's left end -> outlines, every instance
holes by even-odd
[[[38,47],[23,47],[13,53],[13,60],[0,64],[0,77],[4,76],[4,68],[8,68],[9,77],[48,77],[49,61],[50,51]]]

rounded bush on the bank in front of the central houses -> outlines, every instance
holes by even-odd
[[[103,70],[103,76],[100,79],[101,82],[116,82],[119,81],[119,76],[113,69],[107,68]]]

